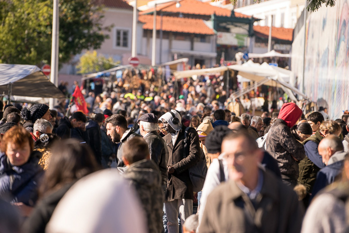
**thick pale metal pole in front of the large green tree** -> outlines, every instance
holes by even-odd
[[[59,35],[59,0],[53,0],[52,20],[52,49],[51,49],[51,82],[58,86],[58,35]],[[54,99],[50,98],[50,108],[54,106]]]

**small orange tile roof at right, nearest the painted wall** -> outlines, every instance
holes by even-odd
[[[268,26],[253,26],[256,35],[267,38],[269,36]],[[274,39],[293,40],[293,29],[284,27],[272,27],[271,36]]]

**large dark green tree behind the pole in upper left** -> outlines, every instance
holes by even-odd
[[[96,0],[59,1],[59,62],[83,49],[97,49],[110,27],[102,26],[102,6]],[[50,63],[52,0],[0,1],[0,62]]]

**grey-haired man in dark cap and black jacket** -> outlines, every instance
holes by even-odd
[[[147,113],[142,115],[137,123],[140,126],[141,135],[149,146],[150,160],[159,166],[162,177],[161,185],[165,191],[168,179],[167,162],[169,160],[169,151],[165,140],[157,132],[159,128],[158,117],[153,113]]]

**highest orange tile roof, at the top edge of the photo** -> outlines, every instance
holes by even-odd
[[[175,1],[159,4],[157,11],[162,10],[164,12],[183,13],[183,14],[198,14],[198,15],[211,15],[215,13],[219,16],[230,16],[231,10],[222,7],[214,6],[209,2],[202,2],[199,0],[180,0],[180,7],[175,6]],[[151,13],[154,9],[148,9],[142,11],[141,14]],[[235,17],[250,18],[251,16],[235,12]]]

